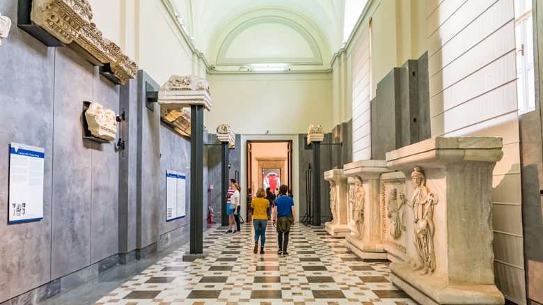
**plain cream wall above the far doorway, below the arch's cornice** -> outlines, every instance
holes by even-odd
[[[212,132],[224,123],[239,134],[303,134],[310,124],[320,124],[325,131],[333,127],[329,73],[208,78],[213,106],[205,125]]]

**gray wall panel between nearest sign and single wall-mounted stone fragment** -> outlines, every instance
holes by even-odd
[[[83,101],[93,100],[93,66],[56,48],[52,279],[91,263],[92,142],[81,138]]]

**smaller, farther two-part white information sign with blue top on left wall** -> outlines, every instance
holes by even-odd
[[[166,171],[166,221],[185,217],[186,185],[184,173]]]

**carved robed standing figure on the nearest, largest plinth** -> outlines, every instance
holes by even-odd
[[[432,193],[426,186],[426,175],[420,166],[415,166],[411,173],[414,188],[411,208],[413,208],[414,244],[422,264],[415,266],[414,270],[423,269],[421,274],[432,273],[436,269],[436,256],[434,253],[434,205],[439,201],[437,194]],[[406,200],[400,194],[400,200]]]

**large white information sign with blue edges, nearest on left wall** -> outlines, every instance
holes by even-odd
[[[43,219],[44,157],[44,148],[11,143],[10,223]]]

